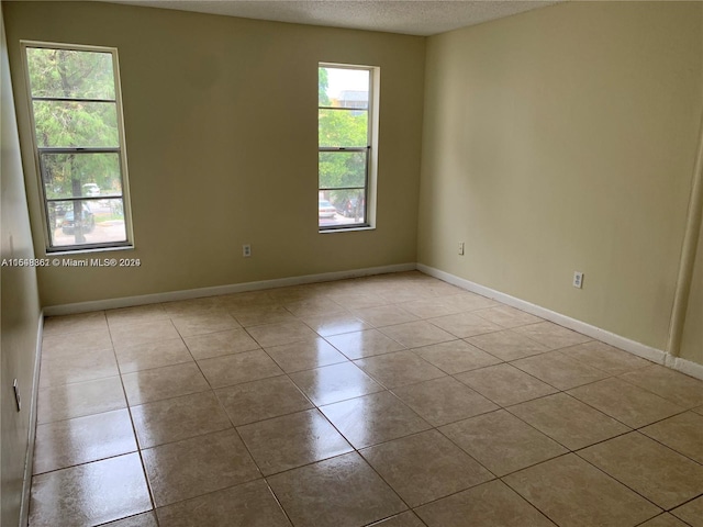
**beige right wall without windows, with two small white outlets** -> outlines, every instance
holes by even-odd
[[[568,2],[428,38],[419,261],[663,349],[702,10]]]

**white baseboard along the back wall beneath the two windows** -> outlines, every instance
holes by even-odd
[[[314,282],[330,282],[347,278],[368,277],[371,274],[414,271],[416,268],[417,267],[414,262],[397,264],[392,266],[368,267],[365,269],[354,269],[349,271],[323,272],[320,274],[304,274],[302,277],[277,278],[274,280],[261,280],[257,282],[215,285],[213,288],[188,289],[183,291],[169,291],[166,293],[143,294],[138,296],[77,302],[75,304],[49,305],[44,307],[44,314],[46,316],[71,315],[74,313],[114,310],[116,307],[132,307],[134,305],[156,304],[159,302],[172,302],[176,300],[190,300],[203,296],[216,296],[219,294],[242,293],[245,291],[258,291],[261,289],[284,288]]]

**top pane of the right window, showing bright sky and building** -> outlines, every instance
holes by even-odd
[[[367,69],[320,68],[317,105],[369,108],[369,71]]]

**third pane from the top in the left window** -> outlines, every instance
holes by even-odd
[[[46,198],[122,197],[120,155],[42,154]]]

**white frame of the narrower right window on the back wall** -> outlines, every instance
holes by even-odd
[[[343,225],[320,225],[317,227],[321,234],[339,233],[349,231],[369,231],[376,228],[376,204],[377,204],[377,181],[378,181],[378,133],[379,133],[379,99],[380,99],[380,68],[377,66],[362,66],[341,63],[321,61],[317,64],[320,68],[336,69],[354,69],[365,70],[369,72],[369,102],[368,102],[368,138],[365,147],[322,147],[317,145],[317,156],[321,152],[367,152],[366,164],[366,182],[365,182],[365,211],[364,223],[353,223]],[[317,110],[328,106],[322,106],[317,103]],[[354,111],[354,109],[349,109]],[[320,162],[320,161],[317,161]],[[320,175],[317,175],[317,194],[323,189],[320,187]]]

